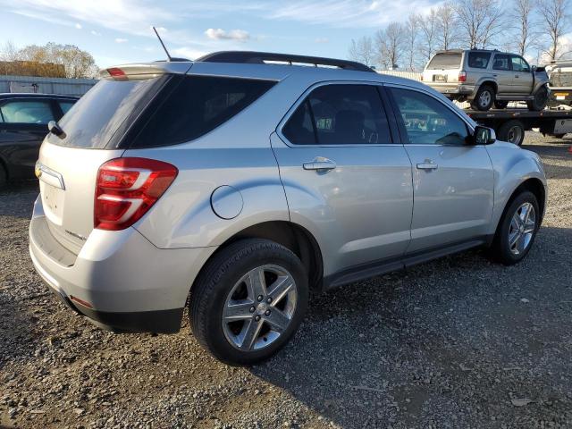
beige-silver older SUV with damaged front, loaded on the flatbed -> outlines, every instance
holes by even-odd
[[[453,100],[477,110],[504,109],[510,101],[526,101],[543,110],[548,102],[548,76],[516,54],[486,50],[440,51],[425,66],[422,80]]]

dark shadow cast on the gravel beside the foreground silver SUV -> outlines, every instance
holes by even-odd
[[[342,427],[565,416],[571,242],[572,229],[543,227],[518,265],[473,250],[327,292],[290,345],[251,371]],[[511,402],[523,397],[534,405]]]

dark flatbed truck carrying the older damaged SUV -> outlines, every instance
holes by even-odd
[[[526,108],[493,109],[486,112],[464,109],[477,123],[492,128],[497,139],[520,146],[525,131],[539,129],[544,135],[561,139],[572,132],[572,110],[547,108],[532,112]]]

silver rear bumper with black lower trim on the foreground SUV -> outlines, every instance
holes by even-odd
[[[94,230],[80,254],[70,256],[46,233],[46,222],[38,198],[29,225],[29,254],[38,274],[68,307],[114,332],[179,331],[190,286],[214,248],[156,248],[128,228]]]

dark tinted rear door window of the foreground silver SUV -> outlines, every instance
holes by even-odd
[[[282,132],[297,145],[391,143],[382,100],[371,85],[315,88]]]

